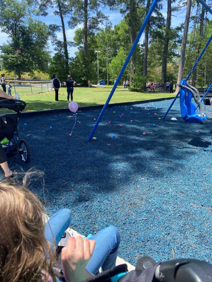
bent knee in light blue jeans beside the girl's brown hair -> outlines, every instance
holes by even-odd
[[[62,235],[68,228],[71,218],[71,211],[62,209],[53,214],[46,222],[44,236],[50,242],[52,251],[54,250],[54,246],[58,245]]]

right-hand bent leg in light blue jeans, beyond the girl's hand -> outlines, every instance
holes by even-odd
[[[86,269],[90,273],[96,274],[100,267],[102,267],[103,271],[113,268],[116,265],[120,243],[120,235],[117,228],[109,226],[89,239],[95,240],[96,246]]]

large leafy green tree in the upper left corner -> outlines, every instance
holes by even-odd
[[[6,70],[14,71],[18,78],[24,72],[47,70],[49,30],[41,21],[31,18],[32,8],[26,0],[6,0],[0,3],[1,30],[8,34],[8,43],[1,48]]]

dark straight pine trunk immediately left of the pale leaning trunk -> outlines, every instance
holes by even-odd
[[[166,83],[166,63],[167,63],[167,54],[168,54],[168,43],[170,36],[170,26],[171,26],[171,12],[172,12],[172,3],[171,0],[167,1],[167,18],[166,18],[166,32],[164,39],[163,47],[163,58],[162,58],[162,84],[163,86]]]

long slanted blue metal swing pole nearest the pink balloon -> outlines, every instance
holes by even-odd
[[[103,116],[103,114],[105,112],[105,109],[107,108],[107,106],[108,106],[108,104],[109,104],[109,102],[110,102],[110,100],[111,100],[111,98],[113,96],[113,93],[114,93],[114,91],[115,91],[115,89],[116,89],[116,87],[117,87],[117,85],[118,85],[118,83],[119,83],[119,81],[120,81],[120,79],[122,77],[122,74],[124,73],[124,70],[127,67],[127,64],[129,63],[129,60],[130,60],[130,58],[131,58],[131,56],[132,56],[132,54],[133,54],[133,52],[135,50],[135,47],[137,46],[137,44],[139,42],[139,39],[140,39],[140,37],[141,37],[141,35],[142,35],[143,31],[144,31],[144,28],[146,27],[146,25],[147,25],[147,23],[148,23],[148,21],[150,19],[150,16],[152,15],[152,12],[155,9],[158,1],[159,0],[153,0],[153,2],[152,2],[152,5],[151,5],[151,7],[149,9],[149,12],[146,15],[146,18],[144,19],[144,22],[143,22],[143,24],[142,24],[142,26],[141,26],[141,28],[139,30],[139,33],[138,33],[138,35],[137,35],[137,37],[136,37],[136,39],[135,39],[135,41],[133,43],[133,46],[131,47],[131,49],[129,51],[129,54],[128,54],[127,58],[126,58],[126,61],[125,61],[124,65],[123,65],[123,67],[122,67],[122,69],[121,69],[121,71],[120,71],[120,73],[118,75],[118,78],[116,79],[116,83],[114,84],[114,86],[113,86],[113,88],[112,88],[112,90],[111,90],[111,92],[110,92],[110,94],[109,94],[109,96],[107,98],[107,101],[106,101],[103,109],[101,110],[101,113],[100,113],[100,115],[99,115],[99,117],[98,117],[98,119],[97,119],[97,121],[96,121],[96,123],[94,125],[94,128],[92,129],[92,132],[90,133],[90,136],[88,137],[88,142],[91,140],[92,136],[94,135],[94,132],[96,131],[96,128],[97,128],[97,126],[98,126],[98,124],[99,124],[99,122],[100,122],[100,120],[101,120],[101,118],[102,118],[102,116]]]

